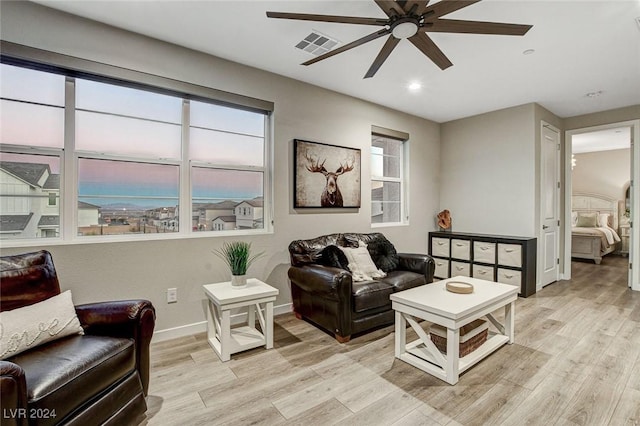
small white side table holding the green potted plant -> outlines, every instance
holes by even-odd
[[[220,360],[229,361],[231,354],[259,346],[273,348],[273,301],[279,293],[277,288],[255,278],[249,278],[244,288],[234,288],[231,282],[202,287],[209,299],[207,339]],[[231,310],[245,306],[247,324],[231,328]],[[256,312],[262,333],[256,329]]]

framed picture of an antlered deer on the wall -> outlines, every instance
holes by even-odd
[[[294,140],[295,208],[360,207],[360,150]]]

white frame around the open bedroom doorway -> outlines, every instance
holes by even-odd
[[[584,127],[565,131],[564,138],[564,256],[562,262],[561,278],[571,279],[571,154],[573,148],[571,141],[573,135],[589,133],[598,130],[612,129],[615,127],[631,127],[631,142],[635,149],[631,149],[631,241],[629,242],[629,263],[636,265],[630,268],[629,281],[632,290],[640,291],[640,226],[633,226],[635,217],[640,215],[640,120],[628,120],[617,123],[608,123],[599,126]],[[639,222],[640,223],[640,222]]]

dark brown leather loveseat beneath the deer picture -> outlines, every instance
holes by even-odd
[[[355,282],[336,246],[367,249],[386,277]],[[325,235],[289,244],[291,298],[297,318],[334,334],[341,343],[351,335],[394,321],[389,296],[433,282],[434,260],[426,254],[397,253],[381,233]]]

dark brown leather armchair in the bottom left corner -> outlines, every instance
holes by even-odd
[[[60,293],[47,251],[0,258],[0,310]],[[144,419],[155,309],[146,300],[77,305],[84,335],[0,361],[2,425],[129,425]]]

